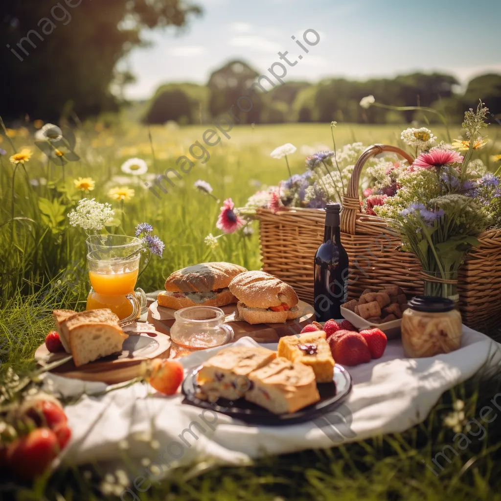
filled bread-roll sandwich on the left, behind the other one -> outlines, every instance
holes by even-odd
[[[228,289],[231,280],[247,270],[231,263],[203,263],[170,275],[158,305],[179,310],[188,306],[225,306],[236,303]]]

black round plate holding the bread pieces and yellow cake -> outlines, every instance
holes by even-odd
[[[195,396],[198,390],[196,374],[200,368],[201,365],[196,369],[191,369],[184,378],[181,387],[185,396],[183,403],[196,405],[204,409],[212,409],[254,424],[281,425],[308,421],[320,414],[332,411],[348,395],[352,386],[349,372],[342,365],[336,364],[332,383],[317,383],[318,392],[320,393],[320,400],[317,403],[292,414],[273,414],[269,410],[252,402],[247,402],[243,398],[239,398],[234,402],[225,398],[218,398],[216,402],[200,400]]]

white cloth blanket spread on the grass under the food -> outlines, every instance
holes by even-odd
[[[236,344],[256,343],[242,338]],[[185,369],[196,367],[219,349],[196,352],[182,363]],[[423,421],[447,389],[500,359],[497,343],[466,327],[462,347],[437,357],[407,359],[400,340],[390,341],[381,359],[348,369],[353,388],[338,409],[315,422],[285,426],[246,425],[212,410],[181,404],[182,395],[162,396],[141,383],[100,397],[84,395],[65,409],[73,436],[63,461],[122,465],[131,479],[136,475],[158,479],[178,466],[246,464],[263,455],[401,432]],[[47,380],[67,395],[84,389],[97,392],[106,386],[55,375]],[[141,488],[139,481],[134,492]],[[134,498],[132,493],[129,496]]]

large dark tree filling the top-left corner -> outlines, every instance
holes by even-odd
[[[79,116],[116,109],[110,86],[130,81],[117,63],[144,45],[141,32],[200,12],[181,0],[2,0],[0,113],[56,120],[68,103]]]

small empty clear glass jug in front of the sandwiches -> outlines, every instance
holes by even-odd
[[[206,350],[229,343],[233,329],[224,323],[224,312],[214,306],[190,306],[174,313],[170,338],[181,349]]]

